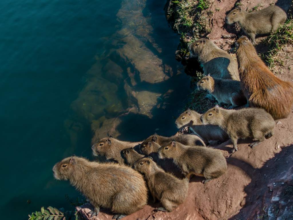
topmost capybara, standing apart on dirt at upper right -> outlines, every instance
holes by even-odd
[[[256,34],[266,34],[276,31],[280,24],[285,23],[287,15],[285,11],[275,5],[268,6],[259,11],[248,13],[241,8],[232,10],[226,16],[226,23],[239,23],[242,30],[255,43]]]

